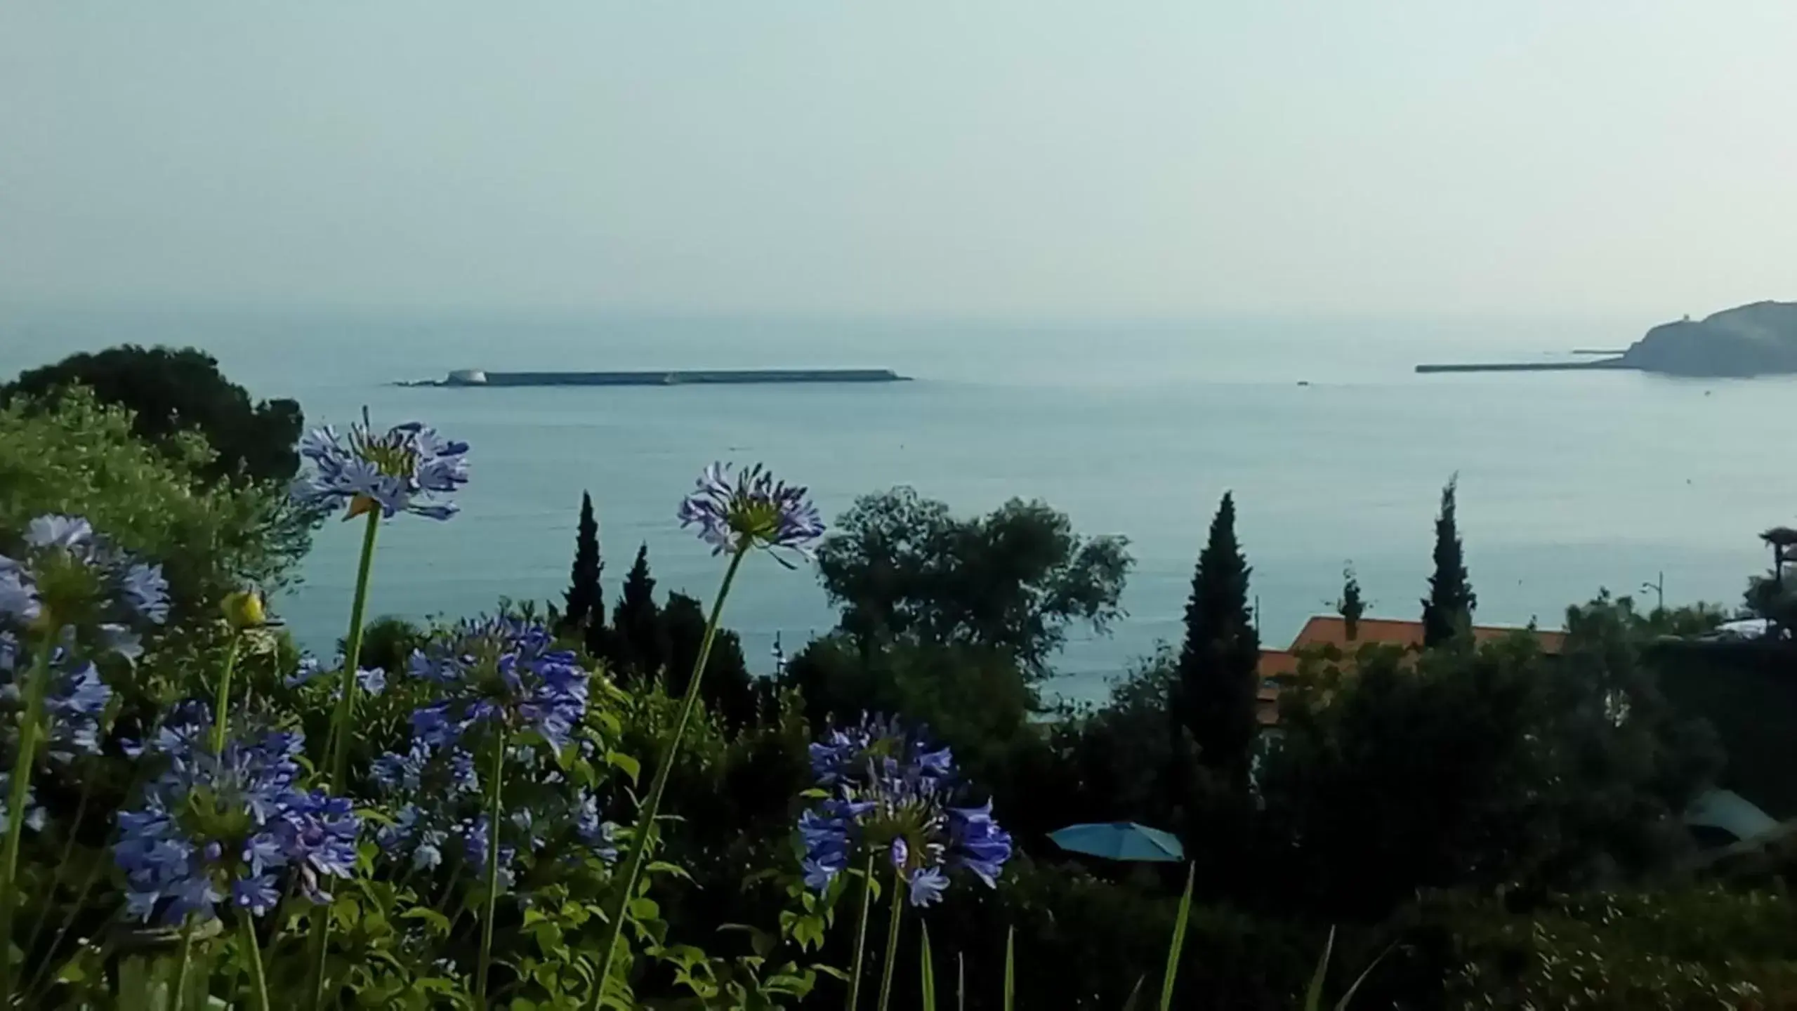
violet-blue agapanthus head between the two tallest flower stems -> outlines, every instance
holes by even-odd
[[[431,747],[503,727],[532,731],[566,747],[586,718],[588,672],[539,621],[487,618],[462,621],[413,650],[406,673],[442,688],[442,697],[412,715],[412,729]]]

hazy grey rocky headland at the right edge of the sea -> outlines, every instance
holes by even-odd
[[[1797,302],[1756,302],[1704,320],[1662,323],[1619,365],[1664,375],[1797,374]]]

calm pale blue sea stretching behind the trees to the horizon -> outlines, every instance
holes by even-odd
[[[1353,562],[1377,614],[1412,616],[1441,483],[1461,476],[1479,620],[1556,623],[1599,587],[1659,573],[1671,602],[1736,602],[1756,533],[1797,512],[1768,453],[1797,384],[1635,374],[1420,377],[1429,359],[1621,347],[1653,320],[868,323],[825,320],[377,318],[0,311],[0,372],[110,343],[198,345],[309,420],[422,418],[469,440],[474,479],[447,524],[381,533],[372,612],[464,614],[566,585],[580,492],[600,517],[607,594],[647,542],[661,587],[708,596],[719,566],[672,514],[712,458],[812,485],[827,515],[907,483],[963,512],[1042,497],[1085,533],[1121,533],[1129,620],[1078,636],[1060,690],[1179,634],[1224,490],[1254,566],[1263,637],[1326,609]],[[451,368],[890,366],[893,386],[404,390]],[[1305,381],[1308,386],[1301,386]],[[316,541],[282,603],[318,648],[341,634],[356,532]],[[832,625],[816,580],[753,566],[731,598],[751,663]]]

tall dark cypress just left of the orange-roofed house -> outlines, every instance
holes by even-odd
[[[1199,745],[1199,761],[1235,792],[1247,788],[1258,727],[1260,634],[1247,602],[1251,571],[1236,542],[1235,497],[1226,494],[1191,576],[1175,709]]]

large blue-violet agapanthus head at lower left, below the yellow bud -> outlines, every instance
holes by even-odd
[[[261,916],[289,885],[329,901],[323,880],[356,867],[349,799],[298,787],[302,734],[270,731],[212,752],[210,729],[205,706],[180,706],[144,749],[167,769],[138,808],[119,813],[113,858],[128,912],[180,923],[230,901]]]

